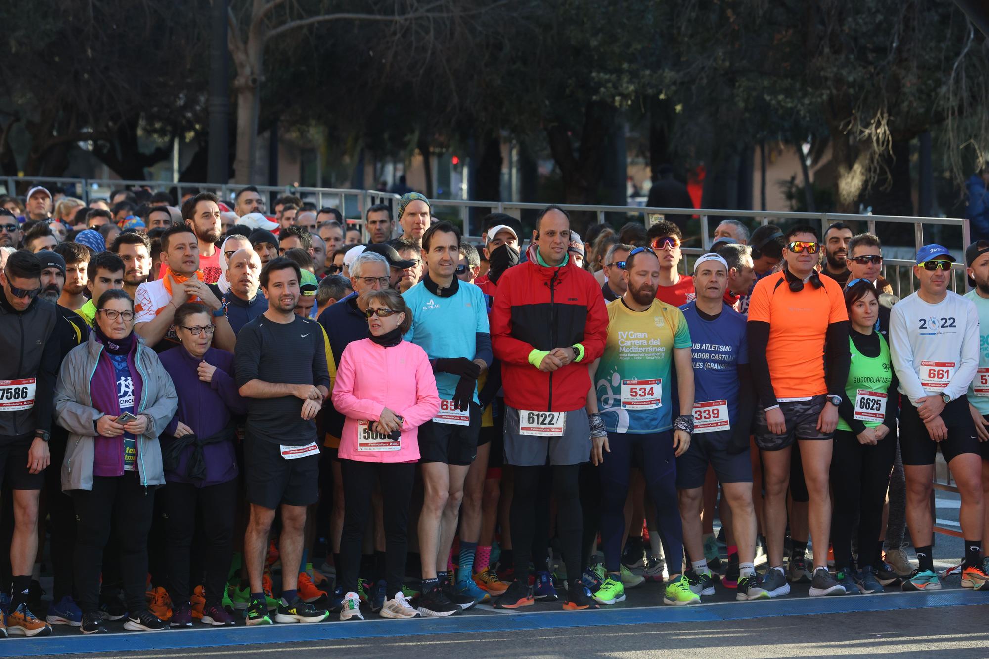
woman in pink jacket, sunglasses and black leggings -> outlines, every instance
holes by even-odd
[[[401,295],[391,289],[367,291],[361,306],[369,336],[343,350],[333,387],[333,405],[346,417],[338,454],[347,502],[338,567],[345,593],[340,619],[363,619],[357,571],[377,479],[387,535],[387,600],[381,616],[416,617],[402,592],[408,504],[419,459],[418,426],[439,410],[436,378],[425,351],[402,338],[412,315]]]

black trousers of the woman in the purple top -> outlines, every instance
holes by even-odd
[[[206,572],[206,601],[219,605],[233,556],[233,523],[237,510],[237,479],[197,488],[188,483],[165,486],[164,509],[168,534],[168,595],[176,606],[189,605],[190,560],[197,518],[202,519],[203,544],[196,553]],[[202,574],[192,575],[195,583]]]

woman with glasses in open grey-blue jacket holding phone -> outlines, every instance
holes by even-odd
[[[128,606],[125,629],[168,623],[148,611],[147,533],[154,491],[165,484],[158,434],[175,416],[172,379],[134,332],[134,303],[123,290],[103,293],[89,340],[62,362],[55,415],[69,431],[62,491],[78,519],[73,570],[83,633],[105,632],[99,610],[103,548],[116,522]]]

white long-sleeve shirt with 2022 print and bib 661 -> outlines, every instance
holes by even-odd
[[[914,406],[932,394],[953,401],[968,391],[978,368],[978,311],[950,291],[936,305],[914,293],[890,310],[889,347],[899,391]]]

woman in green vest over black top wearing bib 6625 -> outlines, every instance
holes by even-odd
[[[866,279],[845,289],[852,362],[839,405],[831,460],[831,541],[835,570],[847,593],[882,593],[896,574],[883,564],[882,507],[896,455],[896,375],[889,344],[875,330],[879,298]],[[852,531],[858,518],[858,569],[852,556]]]

